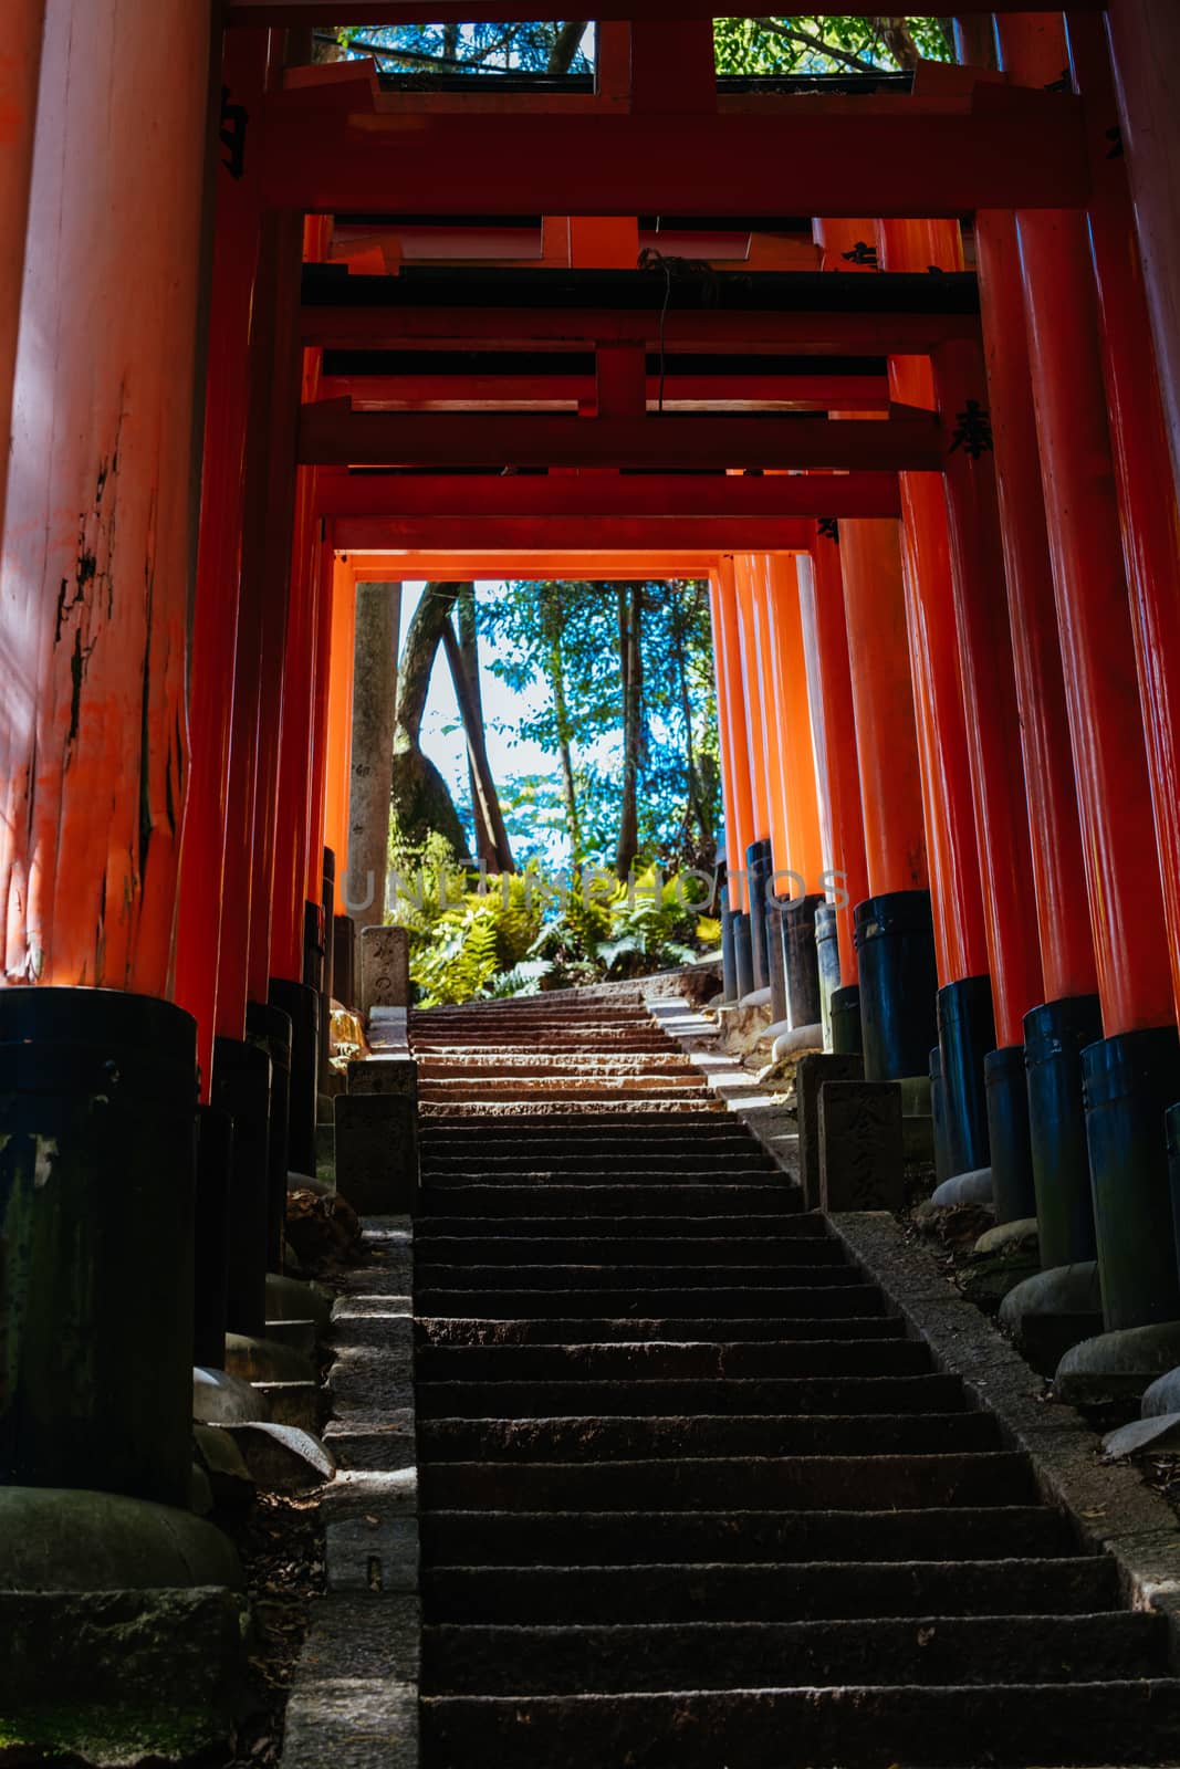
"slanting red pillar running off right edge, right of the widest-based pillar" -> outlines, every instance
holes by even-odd
[[[1106,35],[1097,16],[1070,18],[1070,58],[1092,120],[1090,246],[1099,288],[1106,396],[1168,916],[1171,987],[1180,1015],[1180,518],[1127,165],[1125,159],[1109,157],[1102,127],[1104,117],[1113,113],[1115,99]]]

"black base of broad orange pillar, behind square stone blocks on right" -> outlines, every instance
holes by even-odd
[[[867,897],[856,904],[854,932],[865,1077],[922,1076],[938,1037],[931,893]]]

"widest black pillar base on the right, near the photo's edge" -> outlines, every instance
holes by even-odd
[[[1081,1053],[1086,1143],[1111,1330],[1180,1320],[1164,1114],[1180,1093],[1180,1035],[1153,1026]]]

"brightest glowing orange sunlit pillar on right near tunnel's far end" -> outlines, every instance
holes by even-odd
[[[782,897],[819,895],[823,892],[823,846],[819,840],[819,800],[816,796],[816,750],[812,743],[810,702],[807,697],[807,655],[800,614],[800,578],[791,554],[764,557],[766,612],[773,667],[773,695],[778,709],[780,775],[785,824],[785,865],[803,879],[789,881]],[[778,856],[775,856],[778,865]]]

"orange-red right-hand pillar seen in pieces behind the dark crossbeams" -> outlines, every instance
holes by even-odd
[[[885,271],[962,269],[957,221],[881,221]],[[890,398],[934,409],[929,357],[890,357]],[[939,984],[987,971],[950,534],[938,474],[904,472],[902,564]]]

